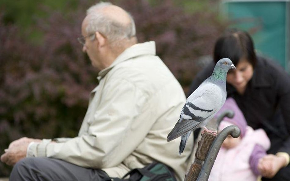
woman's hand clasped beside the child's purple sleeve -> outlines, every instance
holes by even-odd
[[[285,158],[273,154],[268,154],[258,162],[258,170],[266,178],[273,178],[276,173],[285,165]]]

